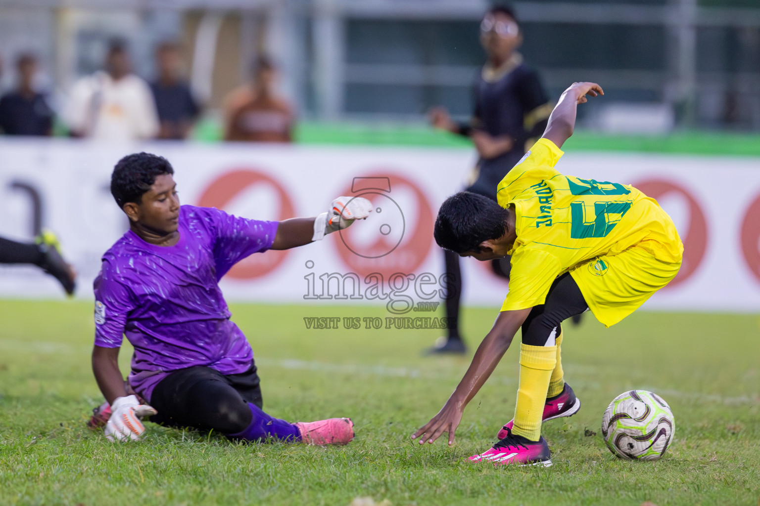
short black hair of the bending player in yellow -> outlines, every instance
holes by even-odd
[[[442,203],[433,236],[445,250],[460,255],[478,252],[484,240],[506,233],[507,216],[507,210],[488,197],[462,191]]]

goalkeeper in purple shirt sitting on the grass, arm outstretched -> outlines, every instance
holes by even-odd
[[[316,218],[261,222],[180,206],[173,174],[166,159],[143,152],[125,156],[111,176],[130,226],[103,255],[94,283],[92,364],[107,404],[90,426],[105,424],[106,437],[128,441],[150,416],[236,440],[350,442],[348,418],[290,423],[261,410],[253,351],[218,282],[246,256],[309,244],[366,218],[371,203],[339,197]],[[135,347],[127,382],[118,363],[123,336]]]

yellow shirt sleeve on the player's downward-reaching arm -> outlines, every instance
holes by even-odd
[[[562,272],[556,256],[531,247],[521,247],[512,256],[509,292],[502,311],[524,310],[543,304],[549,288]]]

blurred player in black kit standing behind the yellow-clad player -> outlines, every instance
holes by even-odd
[[[492,7],[480,23],[480,43],[488,61],[477,77],[475,110],[469,122],[459,124],[445,108],[434,108],[430,121],[436,128],[470,137],[478,153],[467,191],[496,201],[496,185],[520,161],[527,149],[541,137],[552,104],[543,90],[538,74],[522,61],[516,49],[523,41],[517,17],[511,8]],[[452,288],[446,298],[448,336],[430,348],[432,354],[463,354],[466,350],[459,334],[461,269],[459,257],[444,251],[446,272]],[[492,261],[496,275],[509,278],[509,257]]]

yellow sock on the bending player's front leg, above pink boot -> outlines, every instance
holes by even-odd
[[[530,441],[541,436],[541,416],[549,379],[557,363],[557,346],[520,345],[520,386],[512,432]]]

